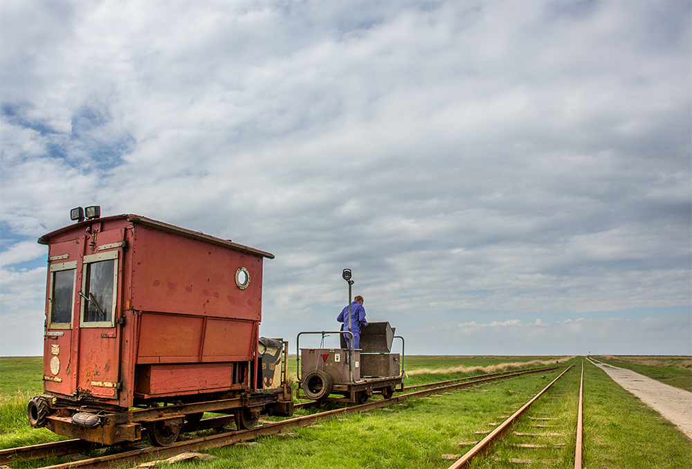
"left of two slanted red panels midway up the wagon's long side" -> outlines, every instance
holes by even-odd
[[[138,362],[197,361],[204,318],[141,313]]]

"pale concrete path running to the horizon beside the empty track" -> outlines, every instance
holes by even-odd
[[[606,365],[591,358],[588,360],[692,439],[692,392],[666,385],[629,369]]]

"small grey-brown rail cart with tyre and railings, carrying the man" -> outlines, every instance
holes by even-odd
[[[321,343],[329,334],[353,338],[350,331],[305,331],[298,334],[295,339],[296,398],[363,404],[373,394],[390,398],[394,391],[403,391],[404,340],[400,335],[394,335],[389,322],[371,322],[363,327],[361,349],[301,349],[300,336],[309,334],[321,335]],[[390,353],[394,338],[401,339],[401,356]],[[352,343],[351,340],[348,342]]]

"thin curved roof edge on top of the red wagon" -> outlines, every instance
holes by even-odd
[[[48,241],[50,241],[51,238],[53,238],[57,235],[62,235],[62,233],[70,232],[70,231],[75,230],[75,229],[89,226],[94,221],[111,221],[111,220],[120,220],[120,219],[125,219],[125,220],[133,223],[134,225],[143,225],[143,226],[147,226],[149,228],[154,228],[155,230],[171,232],[171,233],[175,233],[176,235],[183,236],[183,237],[192,238],[192,239],[199,239],[200,241],[205,241],[207,243],[217,244],[218,246],[224,246],[226,248],[246,252],[248,254],[267,257],[268,259],[274,259],[274,255],[271,252],[266,252],[263,250],[251,248],[250,246],[244,246],[242,244],[234,243],[233,241],[230,241],[230,239],[221,239],[221,238],[217,238],[214,236],[205,235],[201,231],[188,230],[187,228],[181,228],[179,226],[170,225],[169,223],[163,223],[163,221],[156,221],[156,220],[149,219],[147,217],[141,217],[140,215],[134,215],[134,214],[113,215],[111,217],[101,217],[99,219],[86,220],[86,221],[82,221],[80,223],[75,223],[73,225],[68,225],[68,226],[60,228],[58,230],[47,233],[46,235],[43,235],[42,237],[40,237],[38,239],[38,243],[39,244],[48,244]]]

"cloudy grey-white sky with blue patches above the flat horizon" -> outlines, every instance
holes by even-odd
[[[0,355],[76,206],[273,252],[407,353],[692,353],[690,1],[0,3]],[[336,343],[336,338],[334,338]]]

